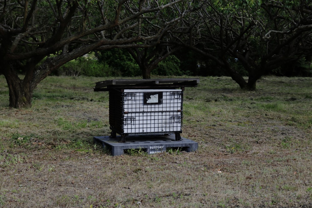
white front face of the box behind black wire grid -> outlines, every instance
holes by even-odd
[[[181,89],[124,90],[122,97],[124,133],[181,132],[183,118]],[[149,102],[151,97],[154,100]]]

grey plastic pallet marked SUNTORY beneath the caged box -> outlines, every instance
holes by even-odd
[[[154,154],[165,152],[167,148],[181,148],[186,152],[193,152],[198,148],[197,142],[187,138],[181,137],[179,141],[176,141],[174,134],[128,136],[125,143],[118,142],[120,140],[119,137],[100,136],[93,137],[93,139],[95,142],[102,143],[104,148],[109,148],[113,156],[122,155],[124,150],[129,149],[142,149],[148,154]]]

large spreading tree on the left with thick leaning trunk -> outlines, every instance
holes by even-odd
[[[0,73],[8,83],[10,107],[30,107],[42,79],[90,51],[156,44],[185,15],[169,15],[180,2],[0,1]]]

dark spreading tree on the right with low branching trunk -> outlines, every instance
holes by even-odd
[[[243,89],[256,89],[261,75],[312,55],[311,1],[204,1],[179,27],[173,34],[179,45],[216,62]]]

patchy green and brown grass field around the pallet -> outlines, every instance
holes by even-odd
[[[92,83],[108,79],[49,76],[10,109],[0,75],[0,207],[312,206],[312,78],[202,77],[183,100],[196,152],[115,157],[93,143],[110,129]]]

